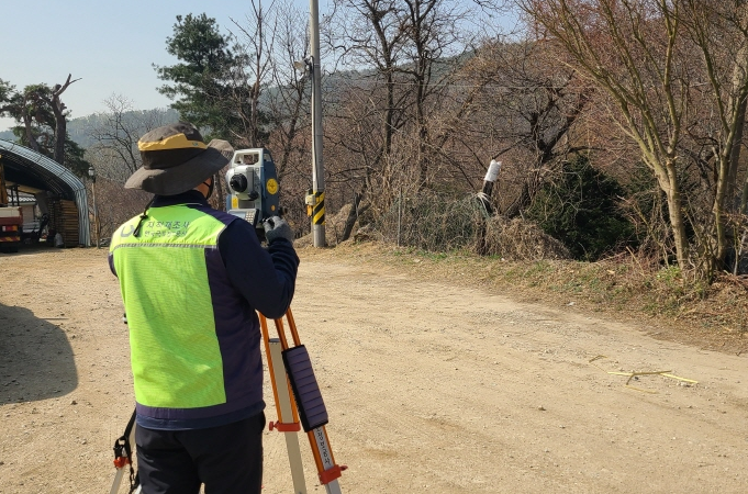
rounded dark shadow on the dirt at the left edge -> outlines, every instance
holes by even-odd
[[[0,405],[62,396],[77,385],[65,332],[27,308],[0,304]]]

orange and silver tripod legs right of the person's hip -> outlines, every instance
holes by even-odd
[[[337,479],[346,467],[335,463],[325,430],[327,411],[314,378],[309,353],[299,339],[290,308],[286,312],[286,319],[291,330],[293,346],[289,346],[286,338],[282,317],[273,319],[278,338],[270,338],[267,318],[259,314],[272,395],[278,413],[278,422],[270,422],[270,430],[278,430],[286,436],[295,494],[306,494],[297,435],[302,427],[312,447],[320,483],[325,486],[327,494],[342,494]]]

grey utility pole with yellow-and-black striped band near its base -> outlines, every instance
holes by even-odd
[[[320,5],[309,1],[312,52],[312,238],[314,247],[325,246],[325,168],[322,162],[322,68],[320,64]]]

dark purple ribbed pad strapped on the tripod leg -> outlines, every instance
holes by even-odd
[[[304,433],[322,427],[328,422],[327,408],[322,401],[306,347],[299,345],[288,348],[282,355]]]

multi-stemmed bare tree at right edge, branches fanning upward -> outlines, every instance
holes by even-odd
[[[695,266],[707,274],[724,266],[748,96],[746,3],[518,3],[536,34],[563,47],[571,65],[614,101],[616,119],[666,194],[679,265],[689,266],[689,212]],[[701,169],[708,204],[683,191],[690,165]]]

